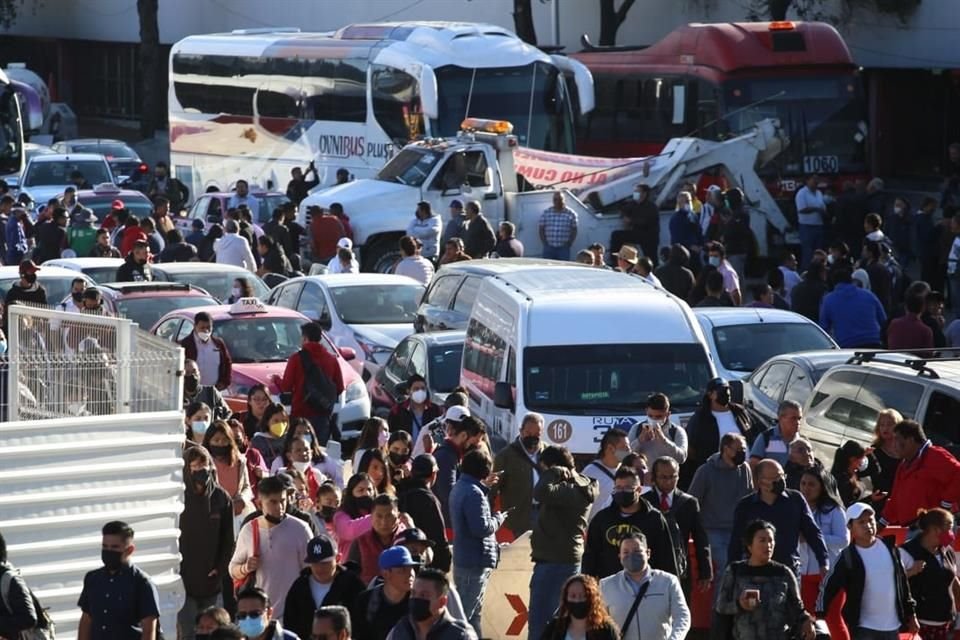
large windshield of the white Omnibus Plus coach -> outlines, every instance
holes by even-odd
[[[521,145],[573,153],[573,115],[556,67],[543,62],[491,69],[445,66],[436,73],[441,115],[433,121],[435,135],[455,135],[467,116],[507,120]]]

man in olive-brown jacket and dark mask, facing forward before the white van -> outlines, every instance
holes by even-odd
[[[507,514],[503,526],[514,538],[533,528],[540,505],[533,501],[533,488],[540,480],[540,454],[543,452],[543,416],[528,413],[520,421],[517,439],[501,449],[493,460],[493,472],[500,481],[491,488],[500,497],[500,508]]]

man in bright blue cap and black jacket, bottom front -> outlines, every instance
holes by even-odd
[[[357,596],[350,609],[355,637],[386,640],[394,625],[409,615],[414,571],[419,566],[406,547],[390,547],[380,554],[383,582]]]

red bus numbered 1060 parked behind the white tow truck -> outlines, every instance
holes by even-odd
[[[688,24],[648,47],[591,47],[596,107],[578,122],[581,153],[658,153],[671,138],[722,140],[778,118],[787,149],[758,173],[775,197],[802,177],[867,172],[866,101],[836,29],[818,22]]]

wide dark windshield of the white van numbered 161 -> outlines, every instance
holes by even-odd
[[[523,350],[524,403],[547,413],[638,414],[662,392],[692,410],[712,373],[696,344],[583,344]]]

